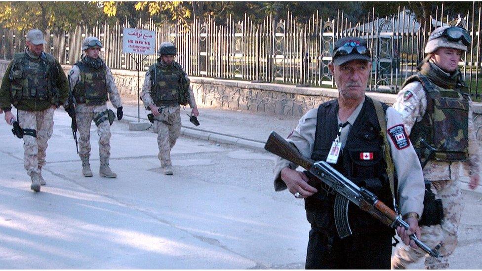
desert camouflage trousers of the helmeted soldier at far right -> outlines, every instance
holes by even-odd
[[[422,231],[420,239],[429,247],[434,248],[439,243],[442,245],[439,249],[441,257],[431,257],[420,248],[413,249],[400,242],[392,257],[393,268],[403,269],[407,264],[417,262],[424,256],[426,256],[425,269],[449,267],[448,258],[457,247],[457,231],[463,210],[461,178],[466,178],[467,174],[461,162],[451,163],[442,169],[442,171],[445,170],[450,172],[450,180],[432,180],[432,192],[436,194],[436,198],[442,199],[444,221],[442,225],[420,227]]]

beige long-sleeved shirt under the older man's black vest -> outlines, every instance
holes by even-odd
[[[361,106],[362,105],[360,104],[348,118],[348,122],[350,122],[350,124],[343,129],[346,129],[346,133],[348,133],[348,130],[353,125],[353,122],[355,122],[355,119],[360,114]],[[310,157],[313,153],[317,113],[318,109],[312,109],[302,116],[298,126],[293,130],[292,134],[287,139],[287,141],[293,143],[296,148],[298,148],[300,153],[305,157]],[[403,124],[400,114],[398,114],[398,112],[391,107],[387,109],[385,116],[387,127]],[[423,211],[425,184],[422,168],[420,166],[420,162],[418,161],[417,154],[415,153],[415,150],[411,144],[409,147],[403,148],[402,150],[397,149],[394,142],[390,139],[388,131],[387,139],[390,144],[390,151],[392,153],[394,166],[397,171],[399,211],[402,215],[409,212],[415,212],[420,216]],[[274,169],[276,191],[286,189],[285,183],[281,180],[281,169],[284,167],[295,169],[297,166],[298,165],[278,157]]]

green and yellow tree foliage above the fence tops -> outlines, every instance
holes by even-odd
[[[375,15],[393,16],[399,6],[406,6],[423,25],[431,14],[437,12],[442,2],[436,1],[32,1],[0,2],[0,26],[17,30],[40,28],[72,30],[77,25],[90,26],[99,23],[115,23],[127,20],[137,27],[139,20],[154,22],[180,20],[185,24],[195,18],[203,22],[211,17],[218,23],[232,18],[254,22],[263,21],[272,15],[275,20],[284,20],[291,14],[298,21],[306,21],[318,14],[323,20],[338,16],[338,10],[348,22],[356,23],[375,7]],[[471,10],[473,2],[443,2],[444,14],[462,16]],[[440,12],[440,10],[439,10]]]

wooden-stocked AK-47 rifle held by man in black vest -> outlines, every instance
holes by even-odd
[[[322,182],[328,185],[333,192],[336,193],[334,215],[336,230],[340,238],[352,234],[352,230],[348,224],[349,201],[355,203],[355,205],[360,207],[361,210],[368,212],[391,228],[403,227],[408,230],[409,225],[403,221],[402,216],[385,205],[385,203],[378,200],[375,194],[363,187],[357,186],[336,169],[331,167],[327,162],[316,162],[304,157],[294,145],[288,143],[278,133],[271,133],[264,148],[268,152],[278,155],[294,164],[300,165],[312,173],[316,179],[311,179],[308,184],[313,186],[315,183]],[[415,234],[411,234],[410,239],[431,256],[439,257],[438,251],[428,247],[425,243],[420,241]]]

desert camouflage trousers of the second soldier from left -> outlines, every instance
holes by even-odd
[[[80,104],[76,108],[77,128],[79,131],[79,156],[83,161],[88,161],[90,157],[90,125],[92,120],[99,114],[107,110],[106,105],[87,106]],[[99,156],[101,161],[109,160],[111,156],[111,126],[109,120],[105,120],[97,126],[99,135]]]

